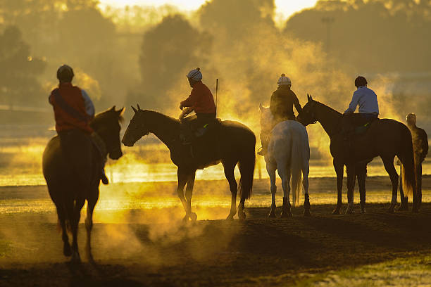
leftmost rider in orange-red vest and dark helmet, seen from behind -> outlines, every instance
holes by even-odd
[[[87,153],[91,151],[92,140],[90,135],[93,129],[89,123],[94,118],[94,105],[87,92],[73,86],[73,69],[62,65],[57,70],[58,87],[51,91],[49,103],[54,108],[56,131],[60,136],[61,146],[65,155],[73,158],[78,172],[87,162]],[[93,136],[94,137],[94,136]],[[104,159],[106,160],[106,158]],[[77,174],[82,180],[87,180],[87,174]],[[108,184],[104,170],[101,171],[101,180]]]

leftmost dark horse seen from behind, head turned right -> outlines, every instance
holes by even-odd
[[[92,162],[85,170],[76,170],[70,157],[65,155],[61,148],[60,136],[54,136],[43,153],[42,170],[48,186],[49,195],[56,205],[58,224],[61,226],[63,238],[63,254],[72,256],[71,262],[80,262],[80,253],[77,246],[77,229],[80,222],[82,206],[87,200],[87,218],[85,227],[87,229],[87,257],[94,262],[91,252],[91,231],[93,227],[93,210],[99,199],[100,174],[104,166],[106,156],[118,160],[123,155],[120,144],[120,124],[123,120],[125,108],[111,109],[99,113],[94,117],[90,126],[94,129],[99,139],[98,145],[89,148],[89,156]],[[79,173],[79,174],[77,174]],[[81,177],[84,174],[85,177]],[[66,229],[72,232],[72,247],[69,244]]]

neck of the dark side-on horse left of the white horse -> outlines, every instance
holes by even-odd
[[[149,119],[146,120],[146,122],[151,123],[149,132],[157,136],[163,144],[170,148],[173,144],[173,139],[179,134],[180,122],[162,113],[151,111],[149,113]]]

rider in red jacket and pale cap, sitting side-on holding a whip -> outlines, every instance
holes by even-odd
[[[194,110],[197,117],[196,129],[198,129],[196,136],[201,136],[207,125],[215,122],[214,98],[210,89],[202,82],[201,69],[191,70],[187,74],[187,79],[193,89],[190,96],[180,103],[180,110],[187,108],[181,113],[180,120]]]

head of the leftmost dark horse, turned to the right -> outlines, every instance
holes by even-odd
[[[92,120],[92,128],[106,144],[109,158],[118,160],[123,155],[120,144],[120,122],[123,120],[125,108],[115,110],[115,106],[99,113]]]

